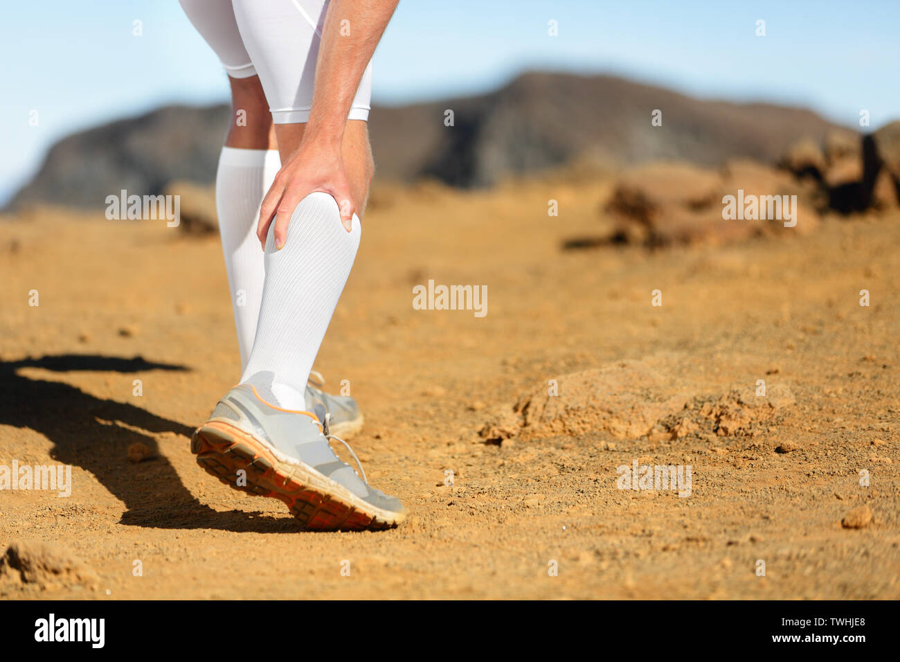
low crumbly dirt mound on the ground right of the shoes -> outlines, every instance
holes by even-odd
[[[675,387],[677,359],[624,360],[572,373],[523,394],[511,408],[494,413],[479,431],[499,442],[606,432],[618,439],[640,437],[661,418],[680,411],[690,395]]]

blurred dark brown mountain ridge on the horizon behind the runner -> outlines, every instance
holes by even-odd
[[[662,126],[651,124],[655,109]],[[445,125],[446,110],[454,112],[453,126]],[[226,105],[166,106],[73,134],[49,150],[11,206],[99,207],[123,188],[156,195],[174,180],[209,184],[228,122]],[[378,177],[435,177],[463,187],[573,160],[774,162],[789,143],[822,141],[833,126],[804,109],[706,101],[617,77],[550,73],[522,75],[490,94],[376,106],[370,114]]]

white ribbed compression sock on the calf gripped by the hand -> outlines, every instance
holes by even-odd
[[[311,193],[294,210],[281,250],[275,250],[274,230],[275,222],[266,240],[257,339],[241,382],[271,404],[305,410],[306,380],[347,284],[362,228],[354,214],[347,232],[335,199]]]

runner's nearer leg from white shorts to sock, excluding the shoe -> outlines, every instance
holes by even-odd
[[[320,0],[234,0],[232,5],[241,39],[266,90],[284,162],[300,145],[309,121],[328,5]],[[341,146],[357,209],[365,204],[374,169],[366,123],[371,89],[370,66],[347,117]],[[275,250],[269,232],[257,335],[241,381],[272,404],[303,410],[306,382],[356,258],[361,226],[355,218],[347,232],[338,203],[323,193],[297,204],[292,218],[292,240],[284,249]]]

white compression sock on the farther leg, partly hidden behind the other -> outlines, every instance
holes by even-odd
[[[278,150],[223,147],[216,173],[216,211],[238,329],[241,371],[247,367],[253,349],[266,277],[263,251],[257,239],[259,205],[279,168]]]

